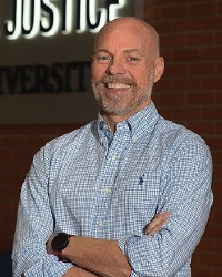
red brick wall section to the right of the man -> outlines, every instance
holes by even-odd
[[[213,155],[214,204],[192,263],[193,277],[222,276],[222,1],[145,0],[160,33],[165,72],[153,99],[159,112],[201,134]]]

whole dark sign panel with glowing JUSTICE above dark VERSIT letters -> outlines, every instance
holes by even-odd
[[[95,33],[143,0],[1,0],[0,124],[85,123]]]

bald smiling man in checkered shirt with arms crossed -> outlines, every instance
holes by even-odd
[[[212,161],[201,137],[158,114],[151,92],[163,69],[159,37],[142,20],[100,30],[98,120],[37,153],[21,191],[16,277],[191,276]]]

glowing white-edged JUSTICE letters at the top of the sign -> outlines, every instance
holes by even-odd
[[[13,0],[12,19],[4,20],[8,40],[20,37],[51,37],[57,33],[98,32],[108,21],[117,18],[127,0]]]

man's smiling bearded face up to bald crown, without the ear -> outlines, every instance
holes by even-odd
[[[92,59],[92,88],[103,115],[129,117],[151,101],[158,43],[140,21],[122,18],[98,34]]]

